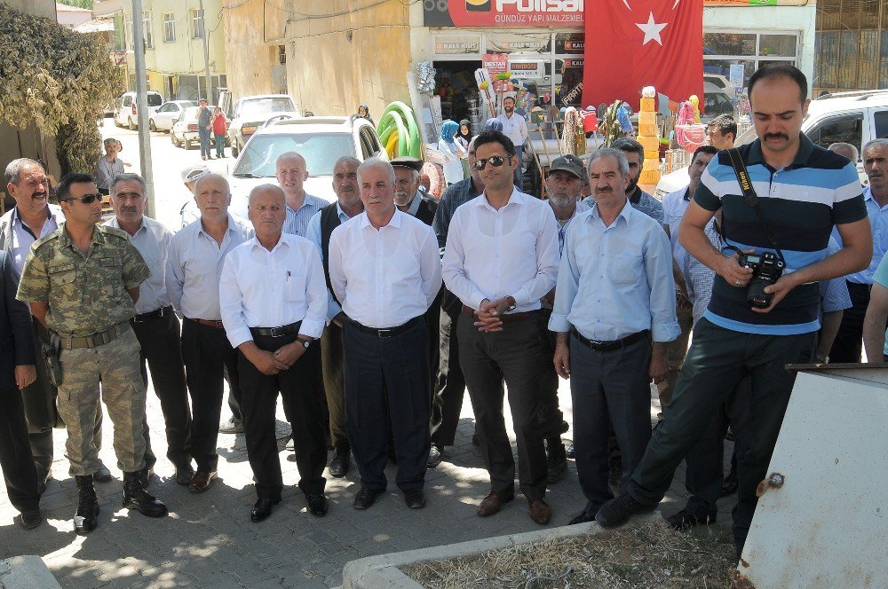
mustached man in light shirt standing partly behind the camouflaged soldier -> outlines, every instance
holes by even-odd
[[[11,258],[17,277],[25,267],[25,258],[31,244],[49,235],[59,228],[65,220],[59,205],[49,203],[50,186],[46,171],[39,161],[19,158],[6,166],[6,192],[15,200],[15,207],[0,217],[0,249],[4,249]],[[34,342],[36,345],[36,380],[22,390],[22,403],[25,406],[25,420],[28,422],[28,442],[34,463],[37,467],[37,479],[40,492],[52,478],[52,429],[59,422],[56,410],[58,391],[50,382],[46,365],[40,357],[41,342],[49,341],[49,334],[36,318],[34,325]],[[93,430],[96,447],[101,450],[102,412],[96,415],[96,427]],[[111,471],[99,460],[99,468],[93,473],[96,481],[111,480]]]

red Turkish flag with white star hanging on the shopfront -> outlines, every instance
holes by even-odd
[[[586,2],[583,105],[625,100],[641,89],[703,103],[703,0]]]

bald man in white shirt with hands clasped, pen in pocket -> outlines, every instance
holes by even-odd
[[[308,510],[327,513],[322,474],[327,462],[321,409],[321,337],[327,285],[312,242],[282,233],[283,191],[259,185],[248,212],[256,237],[226,256],[219,306],[228,341],[237,349],[243,429],[258,499],[250,512],[261,522],[281,502],[283,479],[274,432],[281,394],[296,440],[299,488]]]

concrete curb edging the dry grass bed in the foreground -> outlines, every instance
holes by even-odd
[[[662,519],[660,511],[643,517],[636,517],[632,523],[654,522]],[[342,574],[342,589],[423,589],[412,578],[400,571],[400,567],[417,562],[474,556],[491,550],[503,550],[520,544],[530,544],[549,538],[574,538],[595,535],[605,531],[597,522],[581,523],[573,526],[527,531],[495,538],[481,538],[459,544],[432,546],[406,552],[380,554],[356,561],[346,562]]]

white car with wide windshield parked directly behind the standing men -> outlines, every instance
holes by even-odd
[[[232,213],[246,218],[250,190],[274,182],[275,162],[287,152],[305,158],[309,173],[305,192],[329,202],[336,200],[333,166],[339,158],[388,158],[373,124],[366,119],[314,116],[273,122],[250,137],[228,175]]]

